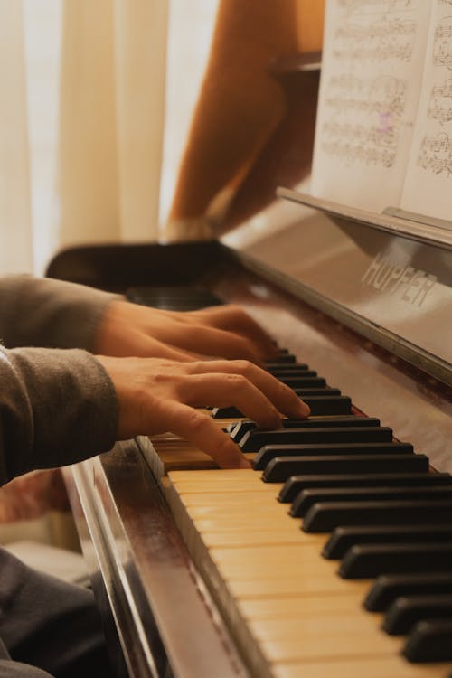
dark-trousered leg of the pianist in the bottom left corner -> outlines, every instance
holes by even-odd
[[[92,593],[32,570],[3,550],[0,638],[15,661],[55,678],[113,675]]]

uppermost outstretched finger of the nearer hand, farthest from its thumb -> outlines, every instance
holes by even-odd
[[[286,384],[278,381],[265,370],[248,361],[211,361],[210,363],[190,363],[186,366],[190,374],[202,374],[206,372],[222,372],[226,374],[240,374],[246,380],[253,383],[259,391],[263,392],[277,410],[292,419],[304,419],[310,414],[310,410],[303,400]],[[206,404],[206,403],[204,403]],[[214,403],[221,407],[221,404]],[[241,410],[243,411],[243,410]],[[252,418],[251,418],[252,419]]]

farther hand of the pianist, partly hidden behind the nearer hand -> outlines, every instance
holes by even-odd
[[[276,348],[237,306],[177,313],[113,301],[100,322],[94,353],[178,361],[210,356],[260,363],[273,357]]]

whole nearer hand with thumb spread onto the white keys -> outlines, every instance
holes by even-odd
[[[195,408],[235,406],[259,428],[279,428],[282,415],[297,419],[309,414],[294,391],[247,361],[98,358],[117,392],[118,439],[171,431],[222,468],[250,465],[213,419]]]

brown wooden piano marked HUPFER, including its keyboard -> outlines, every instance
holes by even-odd
[[[252,470],[216,469],[171,433],[66,470],[118,673],[452,675],[444,226],[289,186],[240,238],[52,261],[51,277],[139,303],[242,306],[278,342],[268,369],[313,411],[266,439],[240,412],[212,410]]]

